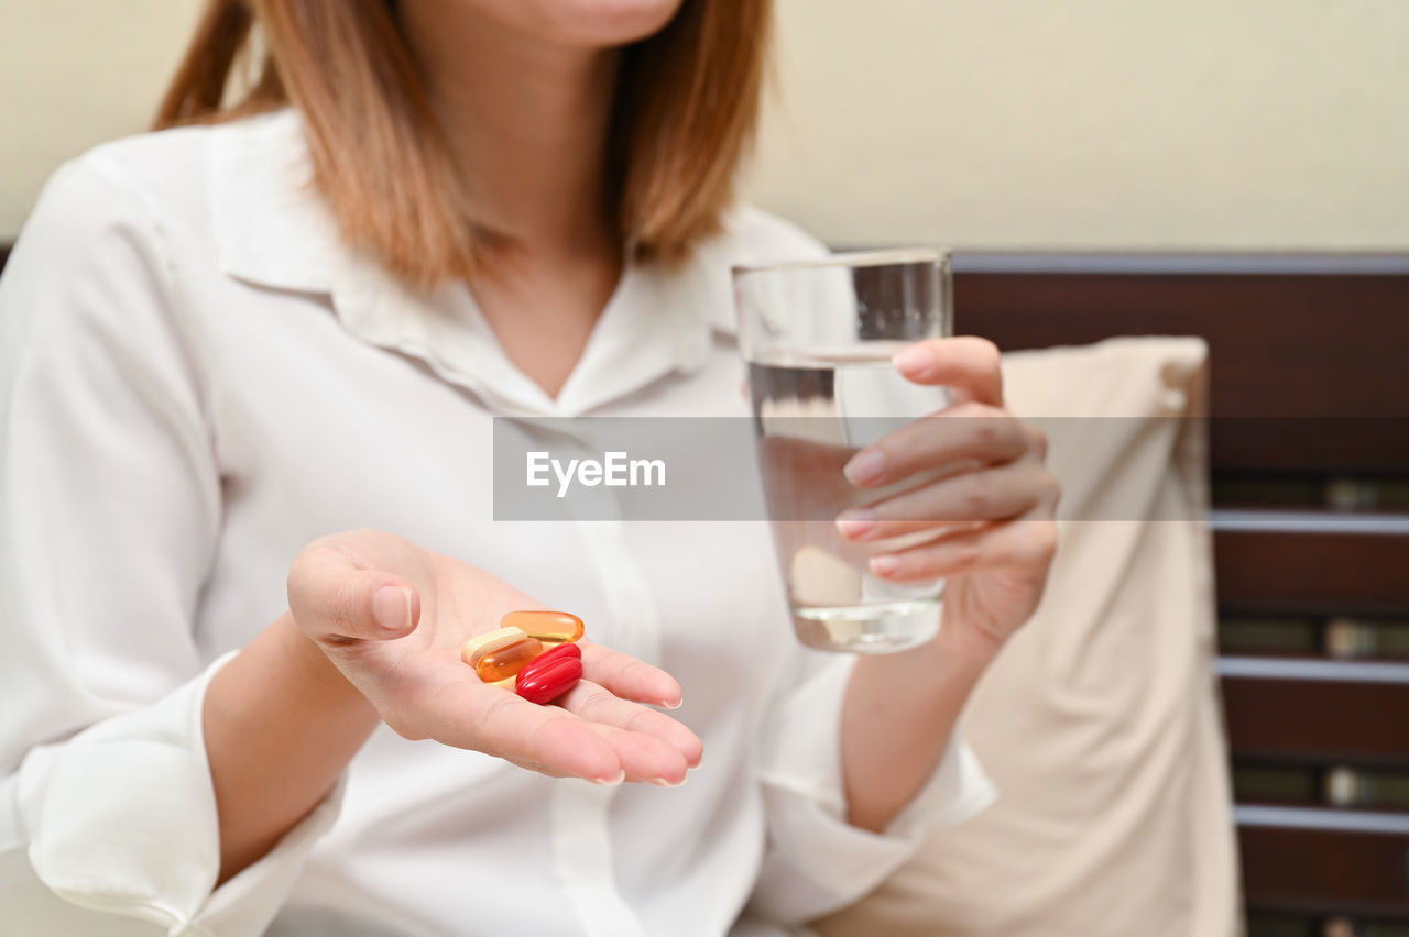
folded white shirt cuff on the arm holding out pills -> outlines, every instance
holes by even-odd
[[[170,934],[259,934],[317,839],[337,819],[345,775],[258,862],[216,889],[220,827],[201,712],[214,661],[152,706],[58,746],[25,784],[30,864],[63,900],[152,922]]]

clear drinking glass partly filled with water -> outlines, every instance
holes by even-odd
[[[740,346],[768,515],[797,639],[862,654],[906,650],[940,627],[941,581],[888,582],[878,553],[906,540],[850,543],[834,518],[933,478],[862,490],[841,474],[861,447],[948,404],[890,357],[951,333],[945,250],[869,250],[734,267]],[[909,537],[934,536],[920,530]]]

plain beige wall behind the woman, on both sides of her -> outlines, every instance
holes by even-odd
[[[200,0],[0,0],[0,239]],[[834,243],[1409,250],[1405,0],[779,0],[750,190]]]

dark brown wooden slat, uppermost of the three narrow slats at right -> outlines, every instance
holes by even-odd
[[[1409,537],[1217,530],[1219,608],[1270,615],[1409,613]]]

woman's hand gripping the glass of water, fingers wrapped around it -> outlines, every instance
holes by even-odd
[[[854,543],[920,530],[920,544],[881,552],[871,571],[893,582],[947,580],[945,630],[996,651],[1033,612],[1057,549],[1061,485],[1047,471],[1047,439],[1003,408],[999,352],[978,338],[919,342],[895,357],[916,384],[952,390],[952,402],[858,452],[845,467],[861,488],[936,470],[937,481],[841,514]],[[957,468],[957,470],[955,470]]]

